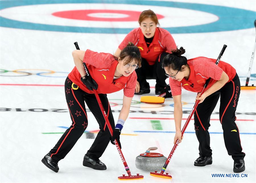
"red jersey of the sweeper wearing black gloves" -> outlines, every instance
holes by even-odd
[[[125,96],[133,97],[137,83],[135,70],[128,77],[121,76],[113,80],[118,61],[110,53],[98,53],[89,49],[84,54],[83,62],[86,63],[91,77],[98,84],[98,93],[113,93],[123,89]],[[86,93],[94,93],[81,82],[81,75],[76,66],[69,73],[68,77],[81,90]]]

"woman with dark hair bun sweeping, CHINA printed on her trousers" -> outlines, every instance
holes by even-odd
[[[240,95],[240,80],[236,70],[223,61],[218,65],[216,59],[196,57],[187,60],[181,56],[185,53],[183,47],[172,51],[163,61],[163,68],[169,76],[170,88],[174,99],[174,120],[177,139],[181,142],[181,85],[185,90],[197,92],[196,100],[200,100],[194,113],[195,133],[199,141],[199,158],[195,160],[195,166],[212,164],[212,149],[210,148],[210,116],[220,98],[220,123],[228,155],[234,160],[233,171],[238,173],[245,170],[244,156],[242,152],[239,130],[235,123],[235,111]],[[201,95],[205,81],[212,78],[206,91]]]

